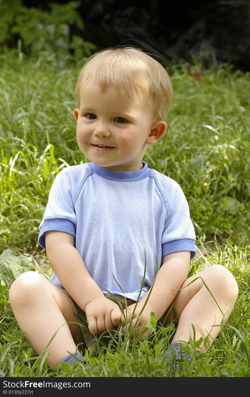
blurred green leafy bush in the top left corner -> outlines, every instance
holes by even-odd
[[[78,1],[51,3],[50,10],[40,10],[20,0],[0,1],[0,53],[18,47],[29,56],[43,51],[76,61],[91,56],[96,45],[70,31],[72,26],[83,29],[79,6]]]

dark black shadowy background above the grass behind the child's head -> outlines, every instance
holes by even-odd
[[[49,9],[49,3],[22,1],[24,6],[42,9]],[[250,0],[84,0],[79,12],[84,29],[72,27],[71,33],[98,49],[138,46],[171,64],[191,62],[195,55],[205,67],[213,63],[214,54],[219,62],[250,70]]]

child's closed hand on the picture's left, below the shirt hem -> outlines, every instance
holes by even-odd
[[[85,307],[89,331],[96,335],[106,330],[114,330],[121,324],[121,309],[106,297],[98,297]]]

